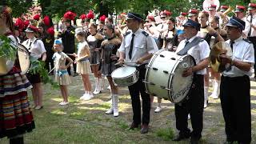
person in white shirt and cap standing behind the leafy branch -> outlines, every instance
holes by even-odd
[[[35,38],[35,33],[38,29],[34,26],[28,26],[26,31],[26,37],[28,38],[26,41],[22,42],[24,46],[29,50],[30,56],[42,60],[42,62],[46,61],[46,49],[43,45],[43,42]],[[34,109],[42,109],[42,84],[41,84],[41,76],[40,74],[27,74],[27,78],[32,84],[32,95],[34,99]]]

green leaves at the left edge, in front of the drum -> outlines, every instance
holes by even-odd
[[[6,57],[15,60],[17,49],[10,44],[10,39],[5,35],[0,35],[0,58]]]

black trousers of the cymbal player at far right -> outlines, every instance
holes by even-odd
[[[226,140],[250,143],[250,78],[222,76],[220,98],[225,119]]]

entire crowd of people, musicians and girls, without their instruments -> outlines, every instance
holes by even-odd
[[[80,16],[81,26],[74,25],[76,14],[68,11],[58,26],[58,38],[54,38],[54,25],[48,16],[40,18],[37,14],[30,23],[17,18],[13,25],[10,8],[3,3],[0,5],[0,34],[10,38],[11,45],[22,43],[31,57],[46,63],[49,74],[55,75],[60,86],[63,97],[60,106],[69,104],[72,65],[74,76],[82,77],[84,94],[80,100],[89,101],[100,94],[106,77],[111,93],[111,106],[106,114],[117,117],[118,86],[111,74],[118,69],[118,64],[130,62],[130,66],[139,71],[138,82],[128,86],[133,110],[130,129],[141,128],[142,134],[149,131],[150,109],[154,101],[154,96],[146,93],[143,83],[146,64],[155,52],[162,49],[178,55],[189,54],[194,58],[195,66],[183,71],[182,76],[194,74],[193,86],[186,100],[175,103],[179,133],[173,141],[190,138],[190,143],[199,142],[203,110],[208,104],[208,89],[212,82],[210,97],[221,100],[226,143],[250,143],[250,76],[253,66],[255,68],[256,4],[249,4],[247,15],[245,6],[236,6],[232,18],[226,14],[228,9],[228,6],[221,6],[217,11],[217,6],[212,4],[209,11],[191,9],[174,18],[170,11],[163,10],[147,15],[146,19],[130,12],[120,14],[118,22],[105,15],[95,22],[94,13],[90,10]],[[226,53],[219,55],[220,62],[226,66],[222,73],[210,68],[210,50],[218,42],[226,42],[233,53],[232,56]],[[90,82],[91,73],[94,75],[94,90]],[[10,138],[10,143],[22,143],[23,134],[34,129],[27,90],[32,90],[32,108],[42,109],[41,82],[40,74],[21,74],[17,61],[10,72],[0,76],[1,138]],[[142,97],[142,114],[139,96]],[[161,102],[162,99],[158,98],[154,112],[162,110]],[[188,118],[192,131],[188,128]]]

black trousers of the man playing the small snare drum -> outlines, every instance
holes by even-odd
[[[142,124],[150,123],[150,94],[146,93],[146,88],[142,80],[145,78],[146,68],[145,65],[139,66],[139,79],[138,82],[134,83],[132,86],[128,86],[131,98],[131,104],[133,107],[133,121],[135,124],[141,124],[141,102],[140,97],[142,97]]]

